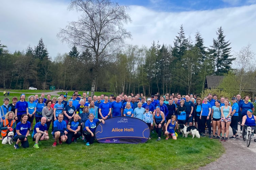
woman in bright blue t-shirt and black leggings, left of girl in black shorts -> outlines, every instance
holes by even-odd
[[[211,138],[211,104],[208,103],[208,99],[204,98],[204,103],[202,104],[202,111],[200,115],[200,127],[201,127],[201,133],[203,134],[202,137],[205,137],[205,123],[208,126],[209,131],[209,138]]]

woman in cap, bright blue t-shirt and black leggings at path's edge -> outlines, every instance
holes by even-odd
[[[236,136],[237,134],[237,124],[238,124],[238,103],[237,103],[237,98],[233,97],[231,99],[233,105],[232,105],[232,113],[231,113],[231,123],[230,127],[232,128],[233,131],[233,136],[229,137],[229,139],[237,139]]]

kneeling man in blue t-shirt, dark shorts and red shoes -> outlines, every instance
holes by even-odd
[[[52,144],[53,147],[56,147],[57,140],[59,139],[59,144],[62,144],[62,142],[65,142],[67,140],[67,124],[65,121],[63,121],[63,114],[58,115],[58,120],[55,120],[53,122],[53,137],[54,142]]]

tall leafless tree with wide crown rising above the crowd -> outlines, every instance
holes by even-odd
[[[62,41],[92,53],[93,96],[98,69],[123,47],[125,38],[131,38],[130,32],[123,28],[131,19],[126,13],[126,6],[119,6],[110,0],[71,0],[69,9],[81,15],[78,21],[72,21],[65,29],[61,29],[57,36]]]

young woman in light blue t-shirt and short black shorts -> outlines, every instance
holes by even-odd
[[[215,101],[215,106],[212,106],[211,108],[211,120],[212,120],[212,134],[213,139],[215,139],[215,132],[216,132],[216,126],[218,126],[218,136],[216,139],[220,139],[221,135],[221,107],[220,107],[220,101]]]

